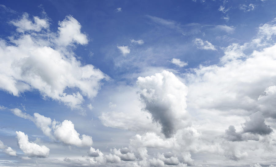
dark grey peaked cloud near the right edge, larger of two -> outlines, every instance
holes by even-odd
[[[243,131],[260,135],[273,132],[271,127],[265,124],[265,119],[260,111],[250,115],[250,120],[244,123]]]

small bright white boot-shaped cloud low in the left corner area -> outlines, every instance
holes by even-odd
[[[21,131],[16,131],[19,148],[29,157],[46,158],[49,156],[50,149],[46,146],[39,146],[36,143],[30,143],[28,135]]]

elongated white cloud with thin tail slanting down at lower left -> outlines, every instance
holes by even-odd
[[[56,120],[52,121],[51,118],[38,113],[34,113],[34,116],[32,117],[17,108],[11,109],[11,111],[13,111],[14,115],[33,121],[36,124],[36,127],[40,128],[43,134],[52,140],[79,147],[92,146],[93,144],[91,136],[83,134],[79,137],[80,134],[75,130],[74,124],[69,120],[64,120],[60,123]]]

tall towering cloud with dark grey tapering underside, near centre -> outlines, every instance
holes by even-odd
[[[163,71],[155,76],[138,77],[140,100],[153,121],[159,122],[163,134],[169,138],[187,122],[187,87],[172,72]]]

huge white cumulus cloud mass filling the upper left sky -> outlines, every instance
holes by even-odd
[[[9,42],[0,39],[0,89],[14,96],[37,90],[43,98],[52,98],[72,109],[80,108],[83,96],[97,95],[100,81],[107,76],[75,58],[75,44],[88,42],[75,18],[67,16],[60,21],[57,33],[50,32],[47,18],[30,19],[23,14],[11,23],[19,33],[9,37]],[[71,89],[76,87],[79,91]]]

